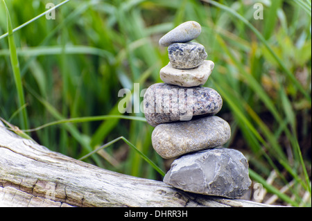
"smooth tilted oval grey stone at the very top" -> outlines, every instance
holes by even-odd
[[[169,46],[173,43],[184,43],[196,39],[200,35],[202,28],[196,21],[186,21],[180,26],[173,28],[159,39],[160,46]]]

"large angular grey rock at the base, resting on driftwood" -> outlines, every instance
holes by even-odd
[[[175,159],[164,182],[191,193],[241,197],[251,180],[248,161],[239,150],[214,148]]]

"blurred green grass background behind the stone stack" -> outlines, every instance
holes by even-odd
[[[61,2],[6,0],[11,28],[48,10],[47,3]],[[254,17],[261,13],[256,3],[263,6],[263,19]],[[153,127],[133,109],[121,114],[118,104],[123,98],[118,92],[127,88],[139,96],[133,93],[134,83],[146,89],[162,82],[159,70],[168,64],[168,53],[158,40],[188,20],[201,24],[196,42],[205,46],[207,59],[215,63],[204,86],[223,97],[217,115],[232,128],[225,146],[245,154],[253,185],[260,183],[265,189],[261,197],[259,184],[252,186],[245,199],[311,206],[309,0],[75,0],[58,7],[55,19],[35,18],[10,37],[5,35],[10,25],[1,0],[1,118],[21,130],[75,118],[27,134],[76,159],[123,136],[168,170],[171,161],[159,157],[151,145]],[[109,116],[90,118],[103,115]],[[137,118],[116,117],[122,115]],[[162,180],[123,140],[84,160]]]

